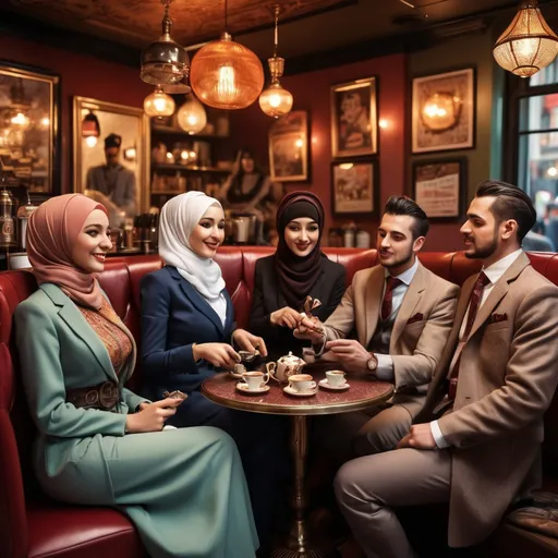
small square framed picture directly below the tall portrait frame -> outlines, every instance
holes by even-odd
[[[378,215],[378,162],[355,160],[331,163],[331,201],[336,216]]]

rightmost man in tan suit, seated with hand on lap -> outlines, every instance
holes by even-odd
[[[539,482],[543,414],[558,380],[558,288],[521,250],[536,217],[524,192],[485,181],[468,217],[465,255],[483,270],[463,284],[424,409],[401,449],[350,461],[336,478],[368,557],[414,556],[393,506],[449,502],[449,545],[464,547]]]

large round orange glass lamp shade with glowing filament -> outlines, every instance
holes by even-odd
[[[192,60],[190,83],[197,98],[216,109],[243,109],[264,87],[264,69],[252,50],[228,33],[202,47]]]

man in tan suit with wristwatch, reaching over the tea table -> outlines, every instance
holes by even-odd
[[[396,395],[369,412],[320,417],[323,444],[342,460],[393,449],[424,404],[456,312],[459,288],[426,269],[416,257],[428,220],[412,199],[391,196],[378,228],[380,265],[354,275],[351,287],[318,333],[306,335],[350,373],[392,381]],[[318,324],[319,325],[319,324]],[[356,330],[357,339],[348,339]],[[325,347],[324,347],[325,344]],[[350,378],[349,378],[350,381]],[[338,433],[331,436],[330,432]],[[335,439],[333,439],[335,438]],[[351,447],[352,446],[352,447]]]

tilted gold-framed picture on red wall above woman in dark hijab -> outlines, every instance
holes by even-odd
[[[293,110],[269,129],[269,175],[276,182],[308,180],[308,114]]]

